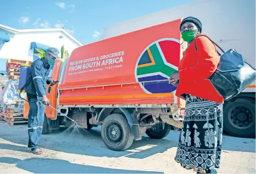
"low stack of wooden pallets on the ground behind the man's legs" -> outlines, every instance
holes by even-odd
[[[23,118],[22,111],[22,108],[5,108],[0,117],[11,126],[28,125],[28,119]]]

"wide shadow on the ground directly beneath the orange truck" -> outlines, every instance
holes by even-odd
[[[0,122],[0,137],[13,143],[27,145],[28,133],[26,126],[11,127]],[[66,133],[65,133],[66,132]],[[150,139],[144,136],[142,140],[134,141],[126,151],[116,152],[109,150],[101,139],[100,128],[94,128],[82,133],[67,133],[65,128],[43,135],[40,145],[42,148],[66,153],[74,153],[95,157],[147,158],[156,153],[163,153],[170,148],[177,147],[180,132],[171,131],[164,139]],[[29,152],[26,147],[10,144],[0,144],[0,149]],[[223,136],[222,150],[255,152],[255,139]]]

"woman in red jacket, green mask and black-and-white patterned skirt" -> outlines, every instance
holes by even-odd
[[[175,160],[198,173],[216,173],[215,168],[220,166],[224,98],[208,78],[216,70],[220,56],[215,45],[200,36],[199,19],[183,19],[180,31],[188,48],[183,52],[179,71],[170,76],[170,83],[178,86],[176,95],[186,99],[186,108]]]

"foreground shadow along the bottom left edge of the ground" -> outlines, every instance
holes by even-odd
[[[17,168],[32,173],[162,173],[102,168],[90,165],[73,164],[67,160],[50,158],[28,158],[21,160],[17,158],[1,157],[0,163],[16,164]]]

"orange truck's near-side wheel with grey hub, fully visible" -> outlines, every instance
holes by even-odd
[[[104,119],[101,137],[110,150],[123,151],[132,145],[134,136],[124,115],[114,113]]]

